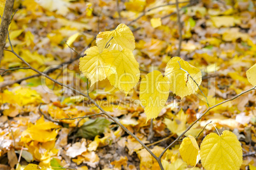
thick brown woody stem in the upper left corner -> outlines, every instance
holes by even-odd
[[[0,25],[0,64],[4,55],[5,40],[8,32],[8,27],[11,23],[11,15],[13,13],[14,0],[7,0],[4,6],[4,13]]]

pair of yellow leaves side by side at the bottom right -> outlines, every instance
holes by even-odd
[[[208,134],[200,148],[193,136],[184,138],[179,148],[181,158],[190,166],[196,166],[201,159],[206,170],[239,169],[243,162],[242,147],[236,135],[230,131],[224,131],[220,136]],[[167,162],[162,163],[163,166],[170,166]]]

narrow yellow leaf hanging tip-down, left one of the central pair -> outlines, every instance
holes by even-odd
[[[160,71],[152,71],[141,80],[139,100],[145,106],[146,121],[156,118],[166,105],[169,96],[169,80]]]

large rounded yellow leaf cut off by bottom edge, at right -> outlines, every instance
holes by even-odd
[[[243,162],[243,151],[236,135],[224,131],[221,136],[210,133],[201,143],[203,167],[208,169],[239,169]]]

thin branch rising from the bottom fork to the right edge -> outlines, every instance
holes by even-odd
[[[246,90],[245,92],[241,92],[240,94],[238,94],[237,96],[234,96],[232,97],[231,99],[227,99],[225,101],[222,101],[221,103],[218,103],[214,106],[211,106],[211,108],[208,108],[206,111],[204,111],[204,113],[199,117],[197,118],[197,120],[195,120],[187,129],[186,131],[182,132],[182,134],[180,134],[180,136],[178,136],[178,138],[176,138],[173,143],[171,143],[169,146],[167,146],[167,148],[164,149],[164,151],[159,155],[159,159],[162,158],[162,156],[164,155],[164,153],[171,147],[174,145],[174,143],[176,143],[176,141],[178,141],[187,131],[189,131],[189,129],[191,129],[191,127],[193,127],[193,125],[195,125],[199,120],[201,120],[201,118],[206,115],[206,113],[208,113],[208,111],[212,110],[213,108],[217,107],[217,106],[220,106],[221,104],[224,104],[224,103],[227,103],[229,101],[233,101],[234,99],[238,98],[239,96],[242,96],[243,94],[246,94],[247,92],[250,92],[252,90],[256,90],[255,87],[253,87],[252,89],[249,89],[249,90]]]

